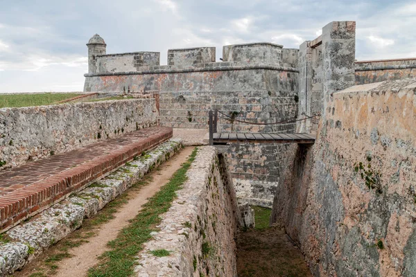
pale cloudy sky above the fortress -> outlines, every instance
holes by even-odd
[[[0,0],[0,92],[82,91],[89,37],[107,53],[275,42],[297,48],[355,20],[356,58],[416,57],[415,1]]]

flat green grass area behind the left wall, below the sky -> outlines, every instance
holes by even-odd
[[[0,95],[0,108],[51,105],[79,95],[79,93],[2,94]]]

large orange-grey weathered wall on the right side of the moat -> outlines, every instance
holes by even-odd
[[[416,275],[416,78],[328,98],[318,138],[293,145],[272,221],[315,276]]]

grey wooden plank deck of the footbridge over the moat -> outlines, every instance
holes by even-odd
[[[263,134],[263,133],[214,133],[214,145],[249,141],[250,143],[297,143],[313,144],[315,136],[306,133]]]

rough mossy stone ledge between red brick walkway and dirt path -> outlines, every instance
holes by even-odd
[[[0,242],[0,276],[21,269],[44,249],[78,229],[85,217],[95,215],[180,148],[182,139],[171,139],[149,152],[149,157],[131,161],[129,166],[123,166],[112,175],[97,181],[98,186],[89,186],[64,202],[51,206],[33,220],[10,229],[6,234],[14,242]],[[29,247],[33,249],[31,254],[28,253]]]

